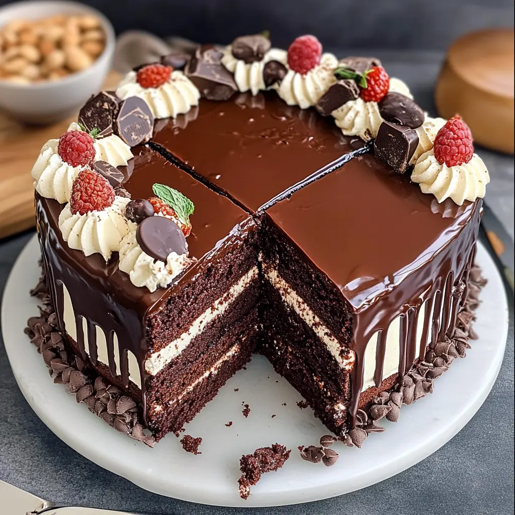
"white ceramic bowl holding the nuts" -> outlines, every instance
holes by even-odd
[[[14,19],[36,20],[54,14],[93,14],[106,34],[104,52],[95,62],[57,81],[16,84],[0,79],[0,109],[31,124],[57,122],[70,116],[100,91],[114,55],[115,35],[109,20],[99,11],[77,2],[17,2],[0,8],[0,27]]]

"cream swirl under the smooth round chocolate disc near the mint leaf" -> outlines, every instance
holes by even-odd
[[[120,244],[118,268],[129,275],[134,286],[145,286],[149,291],[168,286],[175,277],[195,261],[187,253],[170,252],[166,263],[155,260],[136,241],[136,231],[128,233]]]

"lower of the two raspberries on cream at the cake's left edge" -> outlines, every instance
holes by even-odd
[[[72,185],[70,209],[73,214],[84,215],[88,211],[102,211],[113,204],[114,190],[109,181],[86,168]]]

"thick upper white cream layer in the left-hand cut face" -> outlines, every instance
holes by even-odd
[[[247,286],[258,277],[258,267],[251,268],[236,284],[231,286],[227,293],[216,300],[207,310],[204,311],[191,325],[190,329],[182,333],[178,338],[170,341],[169,344],[158,352],[150,355],[145,361],[145,370],[150,375],[156,375],[168,363],[177,357],[191,344],[208,325],[225,313],[234,300],[247,288]]]

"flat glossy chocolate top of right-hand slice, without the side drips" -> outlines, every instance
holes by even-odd
[[[431,259],[470,219],[473,205],[438,204],[362,156],[267,212],[359,308]]]

